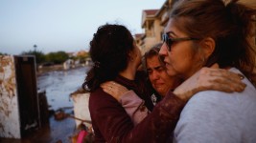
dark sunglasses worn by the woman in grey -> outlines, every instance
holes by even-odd
[[[183,38],[170,38],[169,33],[164,33],[163,34],[163,42],[167,44],[167,49],[168,51],[171,51],[171,47],[175,42],[180,42],[180,41],[189,41],[189,40],[198,40],[198,38],[191,38],[191,37],[183,37]]]

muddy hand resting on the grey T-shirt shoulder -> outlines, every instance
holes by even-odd
[[[183,100],[190,99],[195,93],[214,90],[221,92],[243,92],[246,85],[242,74],[219,69],[217,64],[202,68],[178,86],[174,93]]]

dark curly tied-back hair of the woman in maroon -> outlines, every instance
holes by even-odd
[[[113,80],[128,67],[133,37],[125,26],[105,24],[90,41],[90,56],[94,63],[87,72],[82,88],[93,92],[105,81]]]

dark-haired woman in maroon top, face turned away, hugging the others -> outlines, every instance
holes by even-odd
[[[193,76],[195,78],[187,81],[198,83],[191,85],[190,88],[194,91],[186,91],[188,88],[182,88],[181,85],[179,88],[184,89],[183,93],[179,92],[176,96],[170,92],[151,111],[149,92],[144,86],[145,76],[137,72],[141,64],[141,52],[126,27],[109,24],[100,27],[90,42],[89,52],[94,66],[87,73],[83,87],[91,92],[89,111],[95,142],[166,142],[171,134],[169,131],[174,130],[178,115],[192,93],[205,89],[229,92],[244,90],[244,84],[241,83],[238,74],[204,69],[204,74],[198,72]],[[232,77],[231,80],[227,80],[229,76]],[[150,115],[136,127],[120,103],[100,87],[102,83],[110,80],[136,92],[151,111]],[[220,84],[213,86],[213,82]],[[230,87],[222,88],[226,84]],[[111,89],[112,87],[109,87],[108,90]]]

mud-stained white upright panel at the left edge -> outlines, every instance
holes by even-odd
[[[21,138],[13,56],[0,55],[0,137]]]

